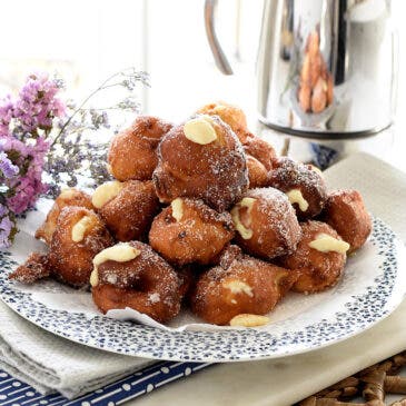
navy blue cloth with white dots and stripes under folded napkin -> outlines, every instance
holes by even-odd
[[[30,385],[0,370],[0,406],[118,406],[210,365],[159,362],[73,400],[59,394],[41,395]]]

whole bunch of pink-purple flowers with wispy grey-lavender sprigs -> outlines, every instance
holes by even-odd
[[[0,248],[10,246],[17,216],[33,207],[40,195],[56,197],[62,185],[91,187],[109,178],[107,141],[120,126],[110,116],[129,112],[133,118],[139,112],[133,95],[138,83],[149,86],[148,75],[125,69],[77,106],[59,98],[65,86],[60,79],[36,73],[16,97],[0,100]],[[116,103],[87,106],[113,88],[125,93]]]

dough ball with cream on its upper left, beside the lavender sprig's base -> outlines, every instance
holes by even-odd
[[[148,234],[159,201],[152,181],[110,181],[99,186],[92,204],[119,241],[142,239]]]

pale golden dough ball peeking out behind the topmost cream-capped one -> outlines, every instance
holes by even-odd
[[[198,111],[200,115],[218,116],[224,122],[230,126],[238,139],[245,143],[249,131],[245,112],[237,106],[224,101],[206,105]]]

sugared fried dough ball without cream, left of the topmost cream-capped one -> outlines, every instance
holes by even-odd
[[[158,164],[158,143],[171,128],[170,122],[157,117],[137,117],[130,128],[111,140],[108,154],[111,175],[121,181],[151,179]]]

